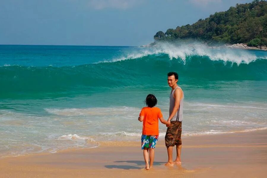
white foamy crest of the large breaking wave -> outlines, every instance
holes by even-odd
[[[255,54],[249,53],[247,50],[236,50],[229,48],[211,48],[204,44],[192,43],[183,45],[174,45],[171,43],[157,43],[153,47],[146,47],[137,52],[129,53],[121,58],[115,58],[112,60],[106,60],[104,62],[117,62],[129,59],[142,58],[148,55],[160,55],[167,54],[170,59],[182,59],[186,63],[186,58],[192,56],[203,56],[209,57],[212,61],[222,60],[224,62],[232,62],[236,64],[250,63],[258,58],[267,59],[267,56],[256,56]]]

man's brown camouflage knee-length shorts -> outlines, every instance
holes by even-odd
[[[174,145],[182,144],[182,122],[171,121],[171,126],[167,128],[165,135],[165,145],[166,147],[174,147]]]

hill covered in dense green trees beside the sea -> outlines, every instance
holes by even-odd
[[[267,45],[267,2],[255,0],[236,4],[225,12],[216,12],[192,25],[158,31],[156,41],[198,39],[209,43],[247,43],[249,46]]]

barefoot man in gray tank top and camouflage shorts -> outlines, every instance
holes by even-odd
[[[183,119],[183,90],[177,85],[178,74],[176,72],[168,73],[168,84],[171,87],[170,94],[170,108],[169,119],[171,125],[168,125],[165,135],[165,145],[168,151],[168,162],[166,166],[173,166],[175,164],[181,164],[181,148],[182,148],[182,119]],[[172,148],[176,145],[176,159],[172,160]]]

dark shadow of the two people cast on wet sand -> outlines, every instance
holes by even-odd
[[[114,163],[131,163],[131,164],[136,164],[134,166],[131,165],[106,165],[105,168],[108,169],[142,169],[143,167],[140,166],[144,166],[144,161],[139,161],[139,160],[130,160],[130,161],[114,161]],[[156,165],[162,165],[164,164],[164,162],[154,162],[154,166]]]

